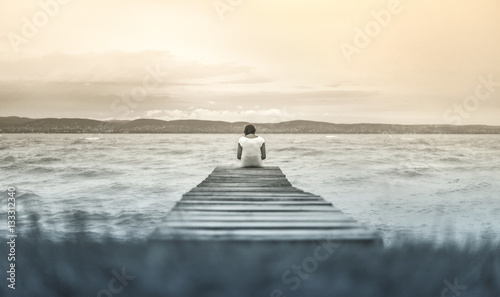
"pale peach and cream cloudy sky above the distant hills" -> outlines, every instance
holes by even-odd
[[[0,0],[0,117],[500,125],[498,0]]]

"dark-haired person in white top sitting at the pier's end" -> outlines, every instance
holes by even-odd
[[[245,127],[245,136],[238,140],[238,160],[243,167],[262,167],[266,159],[266,143],[264,138],[255,135],[257,130],[253,125]]]

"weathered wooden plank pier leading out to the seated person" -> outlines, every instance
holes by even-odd
[[[216,167],[182,196],[155,239],[380,243],[322,197],[295,188],[279,167]]]

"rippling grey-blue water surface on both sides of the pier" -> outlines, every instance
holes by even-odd
[[[216,166],[238,166],[240,136],[0,135],[0,232],[7,232],[7,188],[15,187],[20,232],[148,238]],[[261,136],[265,166],[280,166],[294,186],[388,244],[498,240],[499,135]]]

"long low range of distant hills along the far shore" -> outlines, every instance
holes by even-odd
[[[0,133],[242,133],[245,122],[138,119],[98,121],[79,118],[0,117]],[[500,134],[500,126],[333,124],[288,121],[255,124],[259,133],[325,134]]]

